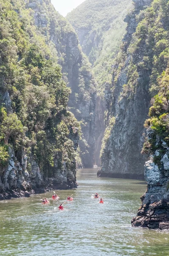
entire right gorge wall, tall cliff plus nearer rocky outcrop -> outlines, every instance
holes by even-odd
[[[142,148],[147,189],[132,226],[163,230],[169,229],[169,1],[134,2],[113,87],[105,88],[108,125],[98,175],[141,177]]]

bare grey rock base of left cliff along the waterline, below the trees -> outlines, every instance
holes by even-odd
[[[73,135],[71,139],[73,140]],[[77,141],[77,137],[75,135]],[[54,163],[54,177],[45,177],[33,158],[29,161],[31,169],[27,170],[28,157],[24,151],[20,161],[14,157],[14,149],[9,147],[8,165],[0,169],[0,200],[29,197],[34,193],[44,193],[52,189],[72,189],[76,184],[76,162],[68,169],[62,162],[59,169],[57,159]]]

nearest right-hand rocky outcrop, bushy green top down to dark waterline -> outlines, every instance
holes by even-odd
[[[146,120],[143,152],[147,190],[141,196],[141,207],[132,219],[133,227],[169,229],[169,69],[159,81],[160,91],[153,99]]]

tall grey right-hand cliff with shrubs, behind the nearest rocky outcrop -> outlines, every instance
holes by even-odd
[[[127,33],[114,65],[112,85],[105,88],[110,134],[104,135],[100,176],[144,177],[144,121],[150,99],[159,90],[158,79],[167,67],[162,58],[168,43],[160,47],[161,40],[166,42],[166,18],[158,21],[159,13],[152,11],[155,4],[152,7],[151,1],[134,2],[134,11],[125,18]]]

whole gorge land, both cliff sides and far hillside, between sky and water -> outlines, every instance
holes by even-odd
[[[145,179],[132,227],[169,229],[169,1],[85,0],[62,17],[0,0],[0,200],[73,189],[93,165]]]

